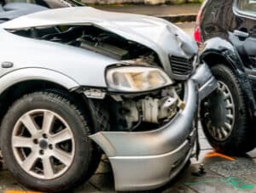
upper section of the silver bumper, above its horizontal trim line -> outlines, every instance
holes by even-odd
[[[185,95],[185,109],[162,128],[148,132],[100,132],[90,138],[108,156],[154,156],[175,150],[192,130],[198,99],[193,80],[187,83]]]

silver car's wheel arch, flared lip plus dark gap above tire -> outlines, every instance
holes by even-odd
[[[93,116],[94,106],[90,99],[75,92],[76,88],[79,88],[79,83],[60,72],[38,68],[21,69],[0,78],[0,85],[0,122],[16,99],[42,90],[49,90],[73,99],[84,111],[90,112],[88,115],[90,118]],[[94,125],[94,122],[92,121],[91,124]]]

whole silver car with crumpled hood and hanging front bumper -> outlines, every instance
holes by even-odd
[[[217,88],[166,20],[89,7],[0,26],[1,149],[20,183],[68,190],[102,153],[115,190],[166,184],[194,154],[198,104]]]

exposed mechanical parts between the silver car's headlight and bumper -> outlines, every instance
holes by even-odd
[[[97,89],[84,91],[88,98],[105,97]],[[158,128],[170,122],[177,112],[183,110],[183,86],[178,84],[150,94],[111,95],[104,99],[108,105],[111,125],[117,131],[143,131]],[[146,127],[145,127],[146,126]]]

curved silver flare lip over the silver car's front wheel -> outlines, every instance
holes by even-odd
[[[68,90],[79,87],[78,82],[75,82],[71,77],[67,77],[58,71],[51,71],[44,68],[25,68],[11,71],[3,75],[3,77],[0,77],[0,94],[3,94],[3,91],[18,82],[30,80],[54,82],[64,88],[67,88]]]

